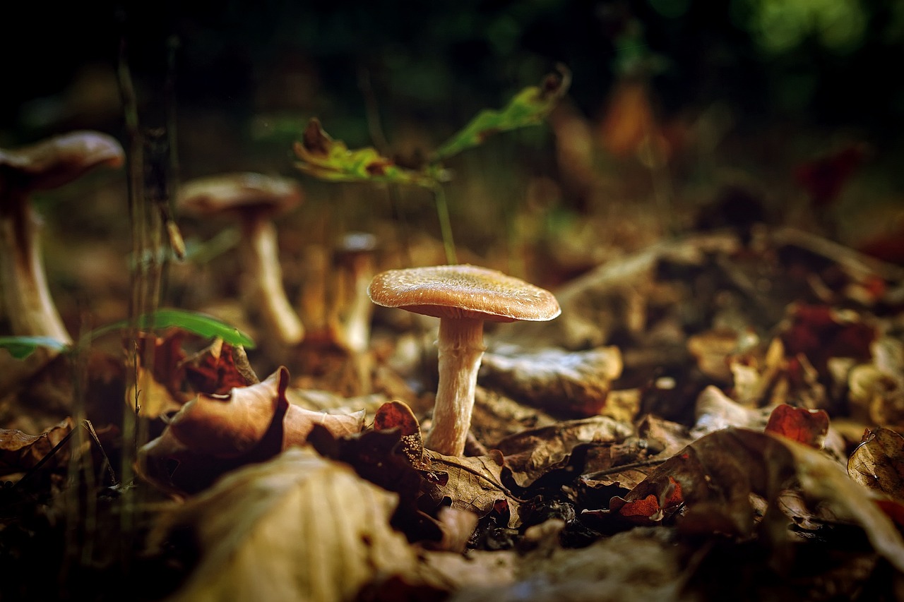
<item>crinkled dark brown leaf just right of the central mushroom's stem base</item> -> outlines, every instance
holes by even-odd
[[[496,446],[515,483],[529,487],[541,476],[569,466],[581,447],[611,446],[634,434],[629,424],[606,416],[568,420],[505,437]]]

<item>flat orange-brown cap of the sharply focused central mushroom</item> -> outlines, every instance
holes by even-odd
[[[470,265],[391,269],[373,277],[373,303],[438,318],[545,322],[561,313],[552,293]]]

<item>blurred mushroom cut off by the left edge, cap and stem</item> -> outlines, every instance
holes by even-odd
[[[94,167],[119,167],[124,161],[116,138],[89,130],[0,149],[0,282],[13,334],[72,343],[47,287],[37,231],[41,219],[29,203],[32,193],[70,183]]]

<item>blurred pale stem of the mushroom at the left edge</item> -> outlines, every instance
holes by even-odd
[[[44,276],[40,218],[24,200],[9,207],[0,212],[0,284],[13,334],[72,343]]]

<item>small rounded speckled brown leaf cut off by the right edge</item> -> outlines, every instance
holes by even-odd
[[[869,431],[853,450],[847,471],[854,482],[904,504],[904,437],[890,428]]]

